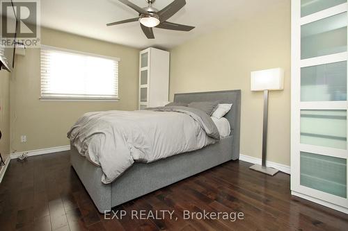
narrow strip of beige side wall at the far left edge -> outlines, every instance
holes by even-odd
[[[10,73],[0,71],[0,153],[3,160],[10,154]]]

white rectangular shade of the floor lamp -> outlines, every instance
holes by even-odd
[[[284,70],[281,68],[251,72],[251,91],[284,89]]]

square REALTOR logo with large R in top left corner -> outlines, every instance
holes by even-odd
[[[0,2],[1,44],[11,46],[8,42],[16,38],[17,43],[26,47],[38,46],[40,0],[0,0]]]

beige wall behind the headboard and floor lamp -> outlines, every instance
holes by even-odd
[[[241,153],[261,157],[262,92],[250,72],[283,67],[285,90],[271,92],[267,160],[290,165],[290,1],[171,51],[170,94],[242,89]]]

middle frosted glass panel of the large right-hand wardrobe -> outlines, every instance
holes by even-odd
[[[301,101],[346,100],[346,61],[301,68]]]

